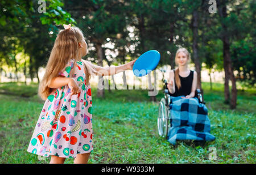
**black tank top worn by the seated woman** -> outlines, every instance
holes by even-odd
[[[191,93],[193,76],[194,76],[194,71],[192,70],[190,70],[190,73],[187,77],[182,77],[179,75],[180,84],[181,84],[180,89],[177,89],[177,86],[175,83],[175,92],[173,94],[169,92],[169,94],[174,97],[181,96],[181,95],[184,95],[184,96],[189,95]],[[175,82],[175,76],[174,76],[174,82]]]

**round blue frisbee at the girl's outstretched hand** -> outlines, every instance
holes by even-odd
[[[147,75],[158,66],[159,61],[160,53],[157,50],[148,50],[135,61],[133,74],[135,76]]]

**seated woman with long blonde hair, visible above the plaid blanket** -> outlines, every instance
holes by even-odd
[[[179,48],[175,55],[175,63],[178,66],[170,71],[167,84],[171,96],[185,96],[181,98],[195,97],[197,86],[197,73],[188,69],[191,56],[187,49]]]

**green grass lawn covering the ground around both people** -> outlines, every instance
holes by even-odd
[[[105,90],[102,99],[93,88],[94,150],[88,163],[255,163],[255,89],[238,90],[237,109],[230,110],[223,103],[222,84],[214,83],[212,91],[209,83],[202,86],[216,140],[175,147],[158,136],[158,102],[151,102],[146,90]],[[22,97],[28,89],[31,97]],[[44,103],[34,95],[36,84],[1,83],[1,91],[0,163],[49,163],[26,151]],[[159,91],[157,100],[162,97]],[[209,147],[216,147],[216,161],[208,159]]]

